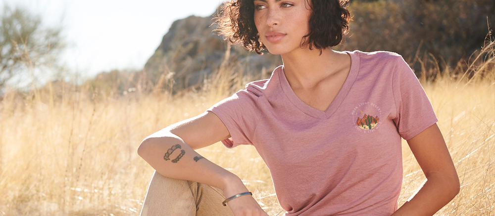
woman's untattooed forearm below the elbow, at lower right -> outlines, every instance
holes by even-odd
[[[404,203],[392,216],[432,216],[459,192],[456,176],[432,174],[412,199]]]

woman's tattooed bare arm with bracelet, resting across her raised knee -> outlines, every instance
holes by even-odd
[[[228,137],[222,121],[205,112],[149,135],[141,142],[138,154],[163,176],[214,186],[231,197],[247,191],[241,179],[194,151]],[[251,196],[236,198],[228,206],[236,216],[266,215]]]

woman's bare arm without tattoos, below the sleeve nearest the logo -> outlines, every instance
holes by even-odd
[[[457,172],[437,124],[407,143],[427,181],[392,216],[432,216],[459,193]]]

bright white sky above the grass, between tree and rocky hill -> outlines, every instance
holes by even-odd
[[[45,26],[62,26],[60,61],[84,77],[142,69],[173,21],[209,16],[223,0],[0,0],[23,7]],[[0,8],[0,11],[1,11]]]

